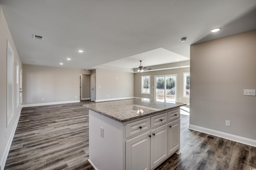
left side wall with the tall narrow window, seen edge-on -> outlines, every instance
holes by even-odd
[[[13,70],[13,108],[14,114],[11,122],[7,127],[7,61],[6,50],[7,40],[9,41],[12,50],[14,51],[14,70]],[[16,107],[16,59],[22,68],[19,55],[17,53],[15,44],[12,40],[12,35],[8,28],[6,19],[0,7],[0,166],[3,169],[5,151],[8,152],[8,143],[12,139],[12,130],[14,130],[16,121],[18,120],[20,107]],[[6,137],[5,137],[6,132]],[[6,153],[8,154],[8,153]]]

